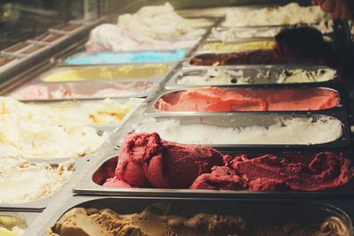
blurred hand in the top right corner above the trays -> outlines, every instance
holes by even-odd
[[[312,0],[312,4],[319,5],[333,19],[354,19],[354,0]]]

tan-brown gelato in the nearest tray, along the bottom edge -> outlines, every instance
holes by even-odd
[[[189,217],[171,215],[169,205],[152,204],[130,215],[111,209],[70,209],[52,226],[50,236],[216,236],[216,235],[333,235],[349,236],[350,228],[338,217],[328,217],[321,225],[250,225],[239,216],[196,213]]]

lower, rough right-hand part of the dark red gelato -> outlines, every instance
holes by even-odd
[[[212,173],[199,176],[191,188],[320,191],[349,182],[350,161],[342,155],[322,152],[312,160],[303,157],[302,161],[296,161],[273,155],[253,159],[237,156],[227,167],[222,167],[223,171],[212,169]]]

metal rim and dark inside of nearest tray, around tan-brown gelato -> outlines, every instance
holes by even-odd
[[[73,196],[57,209],[44,212],[35,224],[28,228],[28,235],[45,235],[66,211],[73,208],[112,209],[118,214],[141,213],[152,204],[164,204],[171,215],[193,216],[197,213],[239,216],[250,225],[320,225],[327,217],[342,220],[350,235],[353,233],[348,211],[350,202],[319,202],[281,200],[232,200],[232,199],[194,199],[194,198],[139,198],[139,197],[93,197]],[[301,210],[300,210],[301,209]],[[347,211],[347,212],[346,212]]]

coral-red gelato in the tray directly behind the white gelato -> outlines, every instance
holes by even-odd
[[[339,103],[335,91],[324,88],[192,88],[163,95],[158,110],[274,111],[325,110]]]

